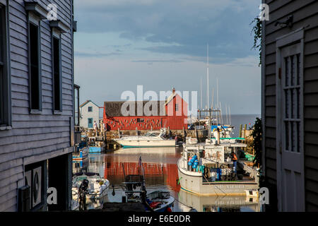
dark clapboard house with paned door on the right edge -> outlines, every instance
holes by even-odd
[[[263,0],[266,210],[318,210],[318,1]]]

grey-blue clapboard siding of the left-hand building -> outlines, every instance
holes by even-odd
[[[72,28],[72,1],[37,0],[43,7],[54,3],[58,19]],[[8,25],[11,57],[12,129],[0,131],[0,211],[16,210],[17,189],[23,186],[23,158],[42,156],[70,147],[73,116],[73,35],[61,34],[61,114],[53,114],[52,34],[48,20],[40,22],[42,114],[30,114],[28,66],[28,13],[23,0],[9,1]],[[58,155],[61,155],[58,154]],[[65,153],[63,153],[65,154]],[[53,156],[53,154],[52,154]],[[30,163],[30,162],[29,162]]]

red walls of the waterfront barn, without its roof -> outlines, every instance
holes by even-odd
[[[177,105],[177,109],[176,109]],[[128,117],[107,117],[103,120],[107,131],[124,130],[160,130],[161,128],[187,129],[187,109],[188,104],[182,97],[175,95],[173,99],[165,105],[165,116],[128,116]],[[139,119],[143,121],[139,122]]]

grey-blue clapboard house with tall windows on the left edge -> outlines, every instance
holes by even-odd
[[[73,31],[72,0],[0,0],[0,211],[70,208]]]

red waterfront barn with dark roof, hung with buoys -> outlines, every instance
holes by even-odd
[[[132,114],[125,116],[123,111]],[[142,114],[138,115],[137,107],[142,106]],[[148,109],[145,111],[145,109]],[[170,128],[172,130],[187,129],[188,104],[180,97],[175,89],[172,95],[165,101],[141,101],[141,102],[104,102],[103,120],[107,131],[124,130],[160,130]],[[149,114],[151,113],[151,114]]]

